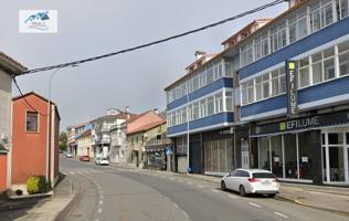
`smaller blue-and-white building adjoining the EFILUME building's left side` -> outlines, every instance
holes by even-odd
[[[176,171],[190,168],[192,172],[220,173],[236,166],[230,129],[234,123],[234,62],[216,54],[197,56],[187,74],[165,88]]]

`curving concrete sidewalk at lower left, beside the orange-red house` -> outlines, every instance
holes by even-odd
[[[13,208],[14,210],[3,212],[1,220],[53,221],[72,201],[72,180],[65,177],[54,189],[53,197],[36,201],[31,209]]]

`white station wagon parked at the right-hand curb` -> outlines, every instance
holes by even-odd
[[[268,170],[235,169],[222,178],[221,189],[237,191],[243,197],[261,193],[273,198],[279,192],[279,183]]]

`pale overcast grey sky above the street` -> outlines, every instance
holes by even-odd
[[[11,0],[1,3],[0,51],[29,69],[118,51],[232,17],[272,0]],[[194,51],[222,51],[221,42],[257,18],[274,18],[287,3],[223,25],[128,54],[62,69],[52,85],[61,128],[88,122],[109,107],[133,113],[166,107],[163,88],[184,74]],[[19,10],[57,10],[59,32],[19,33]],[[47,96],[52,73],[21,76],[23,92]],[[13,87],[13,95],[18,92]]]

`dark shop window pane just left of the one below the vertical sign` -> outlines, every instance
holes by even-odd
[[[272,171],[276,177],[283,177],[283,145],[282,136],[273,136],[272,145]]]

